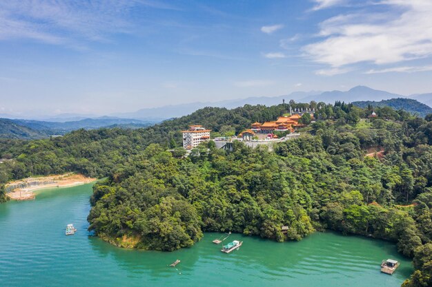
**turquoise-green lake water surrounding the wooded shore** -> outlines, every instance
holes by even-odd
[[[0,204],[0,286],[400,286],[413,272],[395,244],[336,233],[314,233],[300,242],[243,240],[220,252],[206,233],[192,248],[172,253],[133,251],[90,236],[86,220],[91,184],[37,192],[37,199]],[[73,223],[75,235],[64,234]],[[400,268],[380,273],[382,259]],[[180,259],[176,268],[168,264]]]

